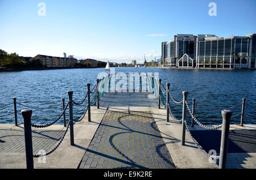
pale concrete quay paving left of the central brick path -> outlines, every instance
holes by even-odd
[[[34,168],[77,168],[105,110],[106,108],[97,109],[92,106],[92,121],[88,122],[86,114],[81,122],[74,125],[75,145],[70,145],[68,131],[56,151],[46,156],[46,163],[42,163],[39,158],[34,158]],[[34,153],[40,149],[48,152],[48,149],[55,146],[65,129],[63,125],[52,125],[42,129],[32,128],[34,131],[34,137],[32,137]],[[10,132],[12,133],[10,134]],[[18,136],[13,136],[15,134]],[[48,136],[47,139],[46,136]],[[16,127],[15,125],[0,124],[0,169],[3,168],[26,168],[23,125]]]

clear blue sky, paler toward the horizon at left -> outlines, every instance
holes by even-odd
[[[0,0],[0,49],[142,63],[143,54],[160,58],[161,42],[176,34],[256,33],[255,7],[256,0]]]

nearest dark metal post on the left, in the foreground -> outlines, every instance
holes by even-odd
[[[32,110],[24,109],[21,111],[21,113],[24,120],[24,136],[25,136],[27,169],[34,169],[32,132],[31,132]]]

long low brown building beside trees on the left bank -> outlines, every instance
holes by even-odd
[[[42,65],[47,67],[73,67],[77,63],[77,59],[73,57],[63,58],[38,54],[34,58],[40,59]]]

